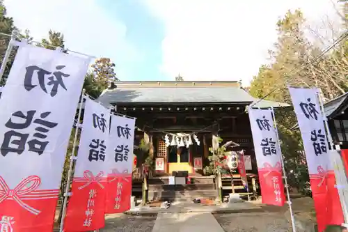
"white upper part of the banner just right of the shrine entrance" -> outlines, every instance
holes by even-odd
[[[281,150],[271,109],[248,108],[258,169],[280,167]]]

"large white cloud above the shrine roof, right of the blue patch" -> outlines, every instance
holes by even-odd
[[[335,1],[335,0],[333,0]],[[185,80],[239,80],[248,84],[267,62],[276,22],[301,8],[309,22],[334,15],[331,0],[145,0],[166,27],[161,70]]]

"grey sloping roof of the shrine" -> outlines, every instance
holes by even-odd
[[[199,82],[114,82],[116,88],[107,89],[98,99],[105,105],[141,104],[244,104],[257,101],[234,81]],[[280,102],[262,100],[255,107],[287,107]]]

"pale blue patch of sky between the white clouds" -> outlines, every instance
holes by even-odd
[[[141,61],[127,64],[134,81],[173,79],[161,73],[161,41],[164,39],[164,24],[153,17],[149,10],[137,0],[102,0],[100,6],[110,17],[117,17],[127,25],[125,39],[141,54]]]

